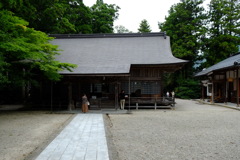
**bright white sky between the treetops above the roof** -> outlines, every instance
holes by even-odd
[[[104,0],[104,2],[116,4],[121,8],[114,26],[123,25],[129,31],[138,32],[141,21],[146,19],[152,32],[159,32],[158,22],[164,22],[170,7],[180,0]],[[96,0],[83,0],[83,3],[91,7]]]

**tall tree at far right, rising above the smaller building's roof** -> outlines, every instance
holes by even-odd
[[[211,0],[209,7],[205,67],[238,52],[240,44],[240,1]]]

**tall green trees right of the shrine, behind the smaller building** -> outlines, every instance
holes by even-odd
[[[171,37],[173,55],[189,60],[181,71],[165,76],[169,88],[182,98],[200,97],[196,72],[239,52],[240,1],[211,0],[207,9],[202,4],[203,0],[182,0],[159,23]]]

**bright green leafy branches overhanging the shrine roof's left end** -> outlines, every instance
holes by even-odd
[[[55,60],[57,46],[43,32],[28,28],[28,23],[9,11],[0,11],[0,84],[20,85],[33,81],[36,75],[59,80],[58,71],[71,70],[75,65]]]

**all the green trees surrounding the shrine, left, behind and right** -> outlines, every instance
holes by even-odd
[[[181,0],[159,23],[159,31],[171,37],[173,55],[189,60],[181,71],[165,74],[165,88],[181,98],[199,98],[194,74],[239,52],[240,1],[211,0],[208,8],[202,4],[203,0]],[[59,70],[75,67],[55,60],[59,50],[49,43],[48,34],[130,32],[124,26],[114,27],[119,10],[103,0],[91,7],[82,0],[1,0],[1,93],[26,83],[38,85],[39,78],[59,80]],[[138,31],[151,32],[146,19]]]

